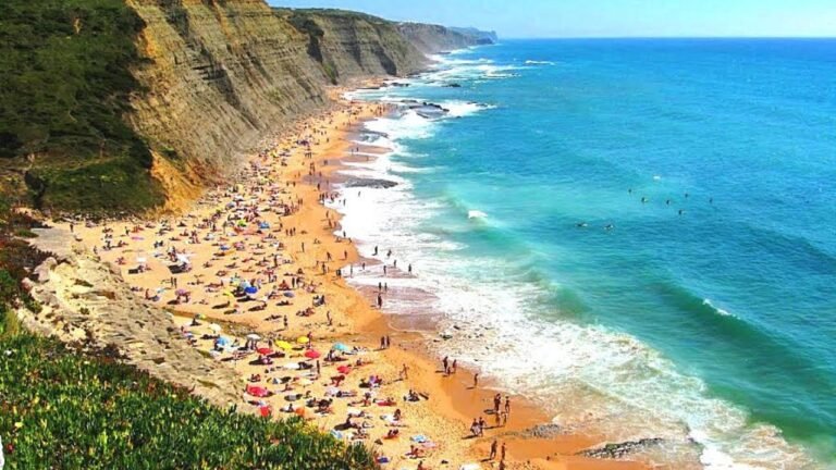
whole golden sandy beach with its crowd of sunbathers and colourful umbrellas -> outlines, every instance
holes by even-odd
[[[257,412],[362,442],[384,468],[644,468],[578,455],[605,440],[564,434],[524,396],[492,389],[490,371],[475,384],[448,358],[445,373],[426,335],[390,325],[386,292],[345,282],[367,260],[324,201],[339,198],[340,163],[357,158],[352,133],[390,110],[339,92],[331,111],[267,141],[234,181],[173,201],[190,206],[181,214],[54,225],[172,312],[184,342],[234,368]]]

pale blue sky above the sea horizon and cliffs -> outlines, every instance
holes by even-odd
[[[827,36],[836,0],[268,0],[511,37]]]

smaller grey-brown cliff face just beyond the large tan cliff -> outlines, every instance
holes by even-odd
[[[340,10],[284,10],[276,15],[307,35],[308,54],[332,84],[368,76],[405,76],[427,65],[426,55],[395,23]]]

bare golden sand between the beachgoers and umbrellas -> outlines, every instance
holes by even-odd
[[[297,345],[288,351],[287,357],[273,359],[272,366],[250,364],[258,358],[253,352],[241,360],[229,360],[232,355],[217,355],[218,367],[233,367],[244,378],[260,374],[260,381],[253,382],[273,392],[274,395],[265,398],[262,405],[269,405],[273,416],[283,417],[281,411],[288,403],[288,394],[309,394],[310,397],[323,398],[332,387],[331,378],[341,375],[337,366],[354,364],[358,359],[367,362],[355,367],[345,374],[342,391],[357,391],[356,398],[334,398],[331,413],[317,415],[312,409],[305,411],[306,419],[325,432],[331,432],[346,419],[351,409],[353,412],[364,412],[366,417],[356,418],[356,423],[367,423],[368,437],[362,438],[367,445],[381,456],[392,461],[388,468],[415,469],[419,461],[425,468],[458,469],[465,463],[476,463],[476,468],[499,468],[499,459],[485,461],[490,445],[494,440],[507,446],[505,468],[543,468],[543,469],[638,469],[643,465],[629,461],[611,461],[576,456],[582,449],[604,443],[601,436],[566,435],[560,432],[546,437],[532,437],[532,428],[549,424],[549,417],[532,406],[526,404],[525,397],[512,396],[512,411],[507,424],[494,428],[495,418],[491,415],[495,391],[490,389],[490,382],[480,381],[480,386],[474,388],[472,374],[459,369],[450,376],[441,371],[440,361],[427,349],[426,337],[417,333],[405,333],[390,327],[385,314],[377,309],[374,293],[359,293],[348,286],[335,271],[348,263],[359,263],[361,260],[349,240],[334,236],[339,227],[339,214],[327,209],[320,202],[320,191],[316,185],[321,185],[322,191],[328,191],[339,178],[335,172],[342,159],[351,158],[349,147],[354,144],[346,138],[353,126],[364,120],[373,119],[386,110],[378,104],[348,103],[339,101],[334,110],[311,118],[297,124],[292,133],[271,143],[271,151],[261,156],[253,156],[250,162],[235,181],[208,191],[195,202],[187,213],[169,218],[171,231],[160,233],[161,221],[119,221],[107,224],[74,224],[74,234],[78,242],[96,249],[103,261],[116,262],[122,268],[125,280],[143,296],[159,293],[157,306],[167,307],[172,311],[184,333],[194,336],[192,342],[196,348],[210,350],[214,341],[202,338],[211,335],[211,323],[221,326],[221,335],[237,338],[242,344],[249,333],[261,336],[258,345],[272,346],[275,339],[287,339],[293,343],[299,336],[312,337],[311,348],[320,351],[321,374],[314,371],[296,371],[285,369],[288,362],[306,360],[302,355],[307,350]],[[297,145],[298,140],[310,141],[309,148]],[[286,157],[281,157],[287,151]],[[263,153],[263,152],[262,152]],[[328,164],[325,164],[325,160]],[[260,170],[254,170],[258,165]],[[311,171],[311,164],[314,169]],[[312,173],[312,174],[311,174]],[[321,175],[320,175],[321,173]],[[329,183],[327,183],[329,182]],[[238,185],[238,191],[232,189]],[[223,227],[222,223],[233,213],[228,205],[241,199],[241,205],[253,201],[258,207],[258,217],[254,218],[246,227]],[[281,215],[283,202],[292,207],[293,212]],[[272,206],[271,206],[272,203]],[[182,206],[182,203],[181,203]],[[270,207],[270,211],[263,209]],[[216,221],[216,231],[211,232],[210,224],[202,223],[213,213],[220,211],[221,217]],[[255,221],[266,222],[270,228],[257,232]],[[69,228],[67,223],[56,223]],[[295,234],[287,231],[294,228]],[[104,230],[110,231],[109,238],[112,249],[104,249]],[[198,243],[189,240],[190,232],[196,231]],[[212,233],[213,239],[207,239]],[[274,238],[266,238],[269,234]],[[347,234],[351,237],[351,234]],[[162,242],[162,247],[155,249],[153,244]],[[235,249],[236,243],[244,244],[244,249]],[[283,244],[279,247],[278,244]],[[122,246],[116,247],[122,244]],[[305,250],[302,250],[302,246]],[[231,247],[222,251],[221,245]],[[181,274],[171,274],[165,253],[171,248],[185,255],[192,270]],[[328,261],[331,253],[332,261]],[[344,257],[345,253],[345,257]],[[304,287],[293,289],[294,297],[273,298],[267,301],[263,310],[249,309],[259,301],[232,300],[225,292],[231,290],[230,277],[239,276],[250,282],[261,282],[260,290],[253,297],[260,298],[278,283],[267,282],[266,271],[273,267],[273,255],[278,255],[279,268],[275,269],[278,283],[285,280],[291,283],[291,275],[302,270],[298,275]],[[133,273],[138,265],[138,259],[144,258],[149,270]],[[322,262],[328,267],[328,273],[322,273]],[[175,277],[176,288],[169,280]],[[212,288],[210,284],[224,280],[223,287]],[[177,289],[189,293],[187,302],[174,302]],[[311,308],[309,317],[297,316],[297,311],[312,306],[315,295],[324,295],[325,305]],[[371,295],[371,298],[369,297]],[[278,306],[279,300],[287,299],[288,306]],[[385,300],[385,295],[384,295]],[[151,301],[151,300],[149,300]],[[229,307],[221,307],[229,304]],[[384,305],[385,307],[385,305]],[[229,310],[237,308],[236,313]],[[385,310],[385,309],[384,309]],[[331,324],[327,320],[330,312]],[[199,325],[193,325],[195,316],[200,316]],[[268,317],[279,316],[278,321],[268,321]],[[288,327],[284,329],[283,318],[288,319]],[[391,337],[391,347],[378,350],[381,336]],[[183,341],[187,341],[184,336]],[[349,347],[358,347],[358,354],[345,356],[342,362],[327,362],[324,356],[336,342]],[[273,347],[276,350],[279,348]],[[225,360],[222,360],[225,359]],[[316,361],[308,360],[309,363]],[[399,380],[401,371],[406,366],[408,379]],[[273,368],[274,370],[271,370]],[[382,378],[383,384],[374,388],[359,388],[361,379],[370,375]],[[283,384],[273,384],[272,379],[291,378],[292,386],[285,389]],[[417,391],[429,399],[406,401],[408,391]],[[349,405],[361,400],[366,392],[373,394],[373,400],[392,397],[394,406],[370,406],[361,404]],[[247,400],[257,403],[259,398],[241,393]],[[504,405],[505,394],[503,394]],[[373,401],[372,400],[372,401]],[[305,399],[293,401],[295,407],[304,407]],[[392,415],[401,409],[403,418],[397,426],[389,425],[381,416]],[[487,412],[491,411],[491,412]],[[487,421],[484,435],[471,437],[470,423],[475,418],[483,417]],[[396,440],[382,438],[390,430],[397,429]],[[432,442],[421,446],[411,441],[416,435],[427,436]],[[422,457],[410,458],[406,454],[410,446],[421,448]]]

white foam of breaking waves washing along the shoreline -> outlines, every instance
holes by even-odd
[[[455,66],[482,65],[489,64]],[[568,431],[604,433],[614,441],[663,437],[665,444],[648,458],[672,468],[680,468],[672,462],[684,455],[694,456],[712,470],[815,468],[776,428],[750,423],[745,410],[713,398],[701,380],[681,372],[646,344],[601,325],[562,319],[560,311],[544,312],[544,298],[555,286],[515,277],[521,260],[468,256],[464,246],[428,224],[450,209],[443,200],[418,199],[409,180],[394,170],[396,164],[409,165],[403,158],[393,161],[397,152],[408,150],[399,146],[401,139],[429,138],[435,126],[443,125],[443,120],[421,120],[406,113],[399,120],[367,124],[388,135],[394,152],[354,164],[346,172],[398,184],[388,189],[362,188],[360,195],[346,190],[346,205],[335,207],[344,213],[343,228],[364,256],[372,257],[373,247],[379,246],[378,258],[386,261],[384,253],[391,248],[398,265],[415,268],[415,276],[383,277],[379,268],[370,268],[355,270],[352,283],[386,282],[390,288],[431,293],[421,305],[401,300],[388,302],[388,309],[442,313],[439,331],[454,335],[438,344],[440,355],[482,370],[502,388],[526,393],[549,407]],[[414,154],[408,161],[420,158]],[[468,218],[477,212],[483,214],[470,209]],[[543,314],[549,321],[542,320]],[[532,354],[532,347],[538,354]]]

